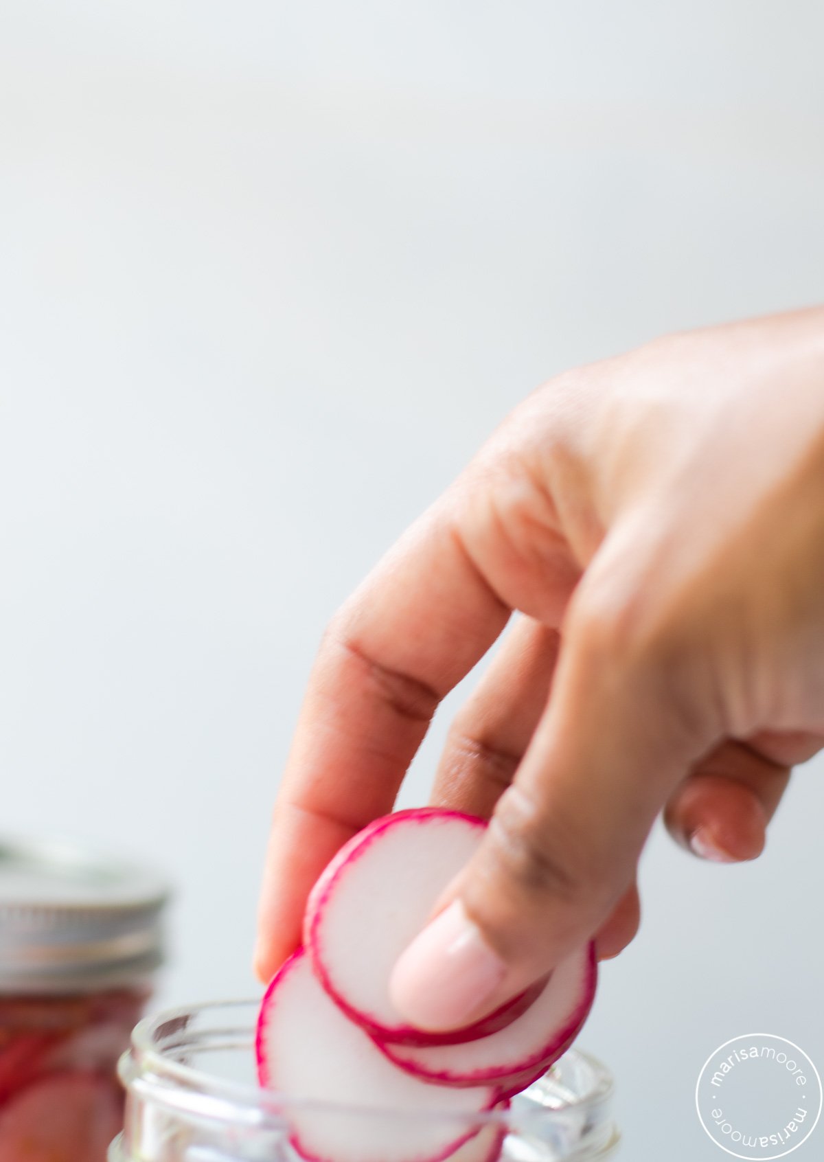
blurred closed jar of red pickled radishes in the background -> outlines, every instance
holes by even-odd
[[[2,1162],[105,1162],[166,896],[143,868],[0,839]]]

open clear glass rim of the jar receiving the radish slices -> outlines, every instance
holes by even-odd
[[[420,1114],[363,1104],[341,1105],[317,1098],[285,1098],[277,1090],[263,1089],[253,1078],[255,1027],[259,1002],[234,1000],[187,1005],[144,1018],[134,1030],[131,1049],[120,1062],[120,1076],[127,1089],[143,1102],[198,1118],[231,1121],[248,1127],[282,1126],[289,1111],[310,1110],[341,1117],[392,1118],[399,1126]],[[229,1076],[222,1057],[245,1059],[250,1079]],[[194,1063],[196,1062],[196,1064]],[[218,1064],[220,1062],[220,1064]],[[322,1068],[322,1063],[321,1063]],[[612,1078],[594,1057],[578,1049],[568,1050],[540,1082],[530,1086],[520,1114],[547,1121],[574,1122],[580,1127],[609,1127],[610,1148],[615,1143],[611,1121]],[[528,1109],[526,1104],[533,1106]],[[428,1110],[427,1118],[480,1127],[511,1125],[511,1112],[456,1113]],[[583,1155],[581,1155],[583,1156]],[[597,1157],[597,1154],[587,1154]]]

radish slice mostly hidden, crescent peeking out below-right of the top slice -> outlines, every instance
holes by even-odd
[[[595,997],[595,946],[558,964],[536,1002],[506,1028],[461,1045],[389,1045],[375,1039],[386,1056],[416,1077],[442,1085],[501,1083],[504,1092],[535,1070],[539,1076],[568,1048]],[[523,1088],[523,1086],[521,1086]]]

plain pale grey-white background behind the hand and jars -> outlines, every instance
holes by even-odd
[[[495,423],[567,365],[822,299],[823,10],[0,8],[0,820],[169,870],[165,999],[252,991],[322,626]],[[821,770],[758,865],[653,838],[583,1039],[625,1157],[721,1157],[693,1090],[731,1037],[824,1066]]]

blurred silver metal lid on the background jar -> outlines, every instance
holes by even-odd
[[[166,884],[67,844],[0,837],[0,994],[119,988],[163,959]]]

